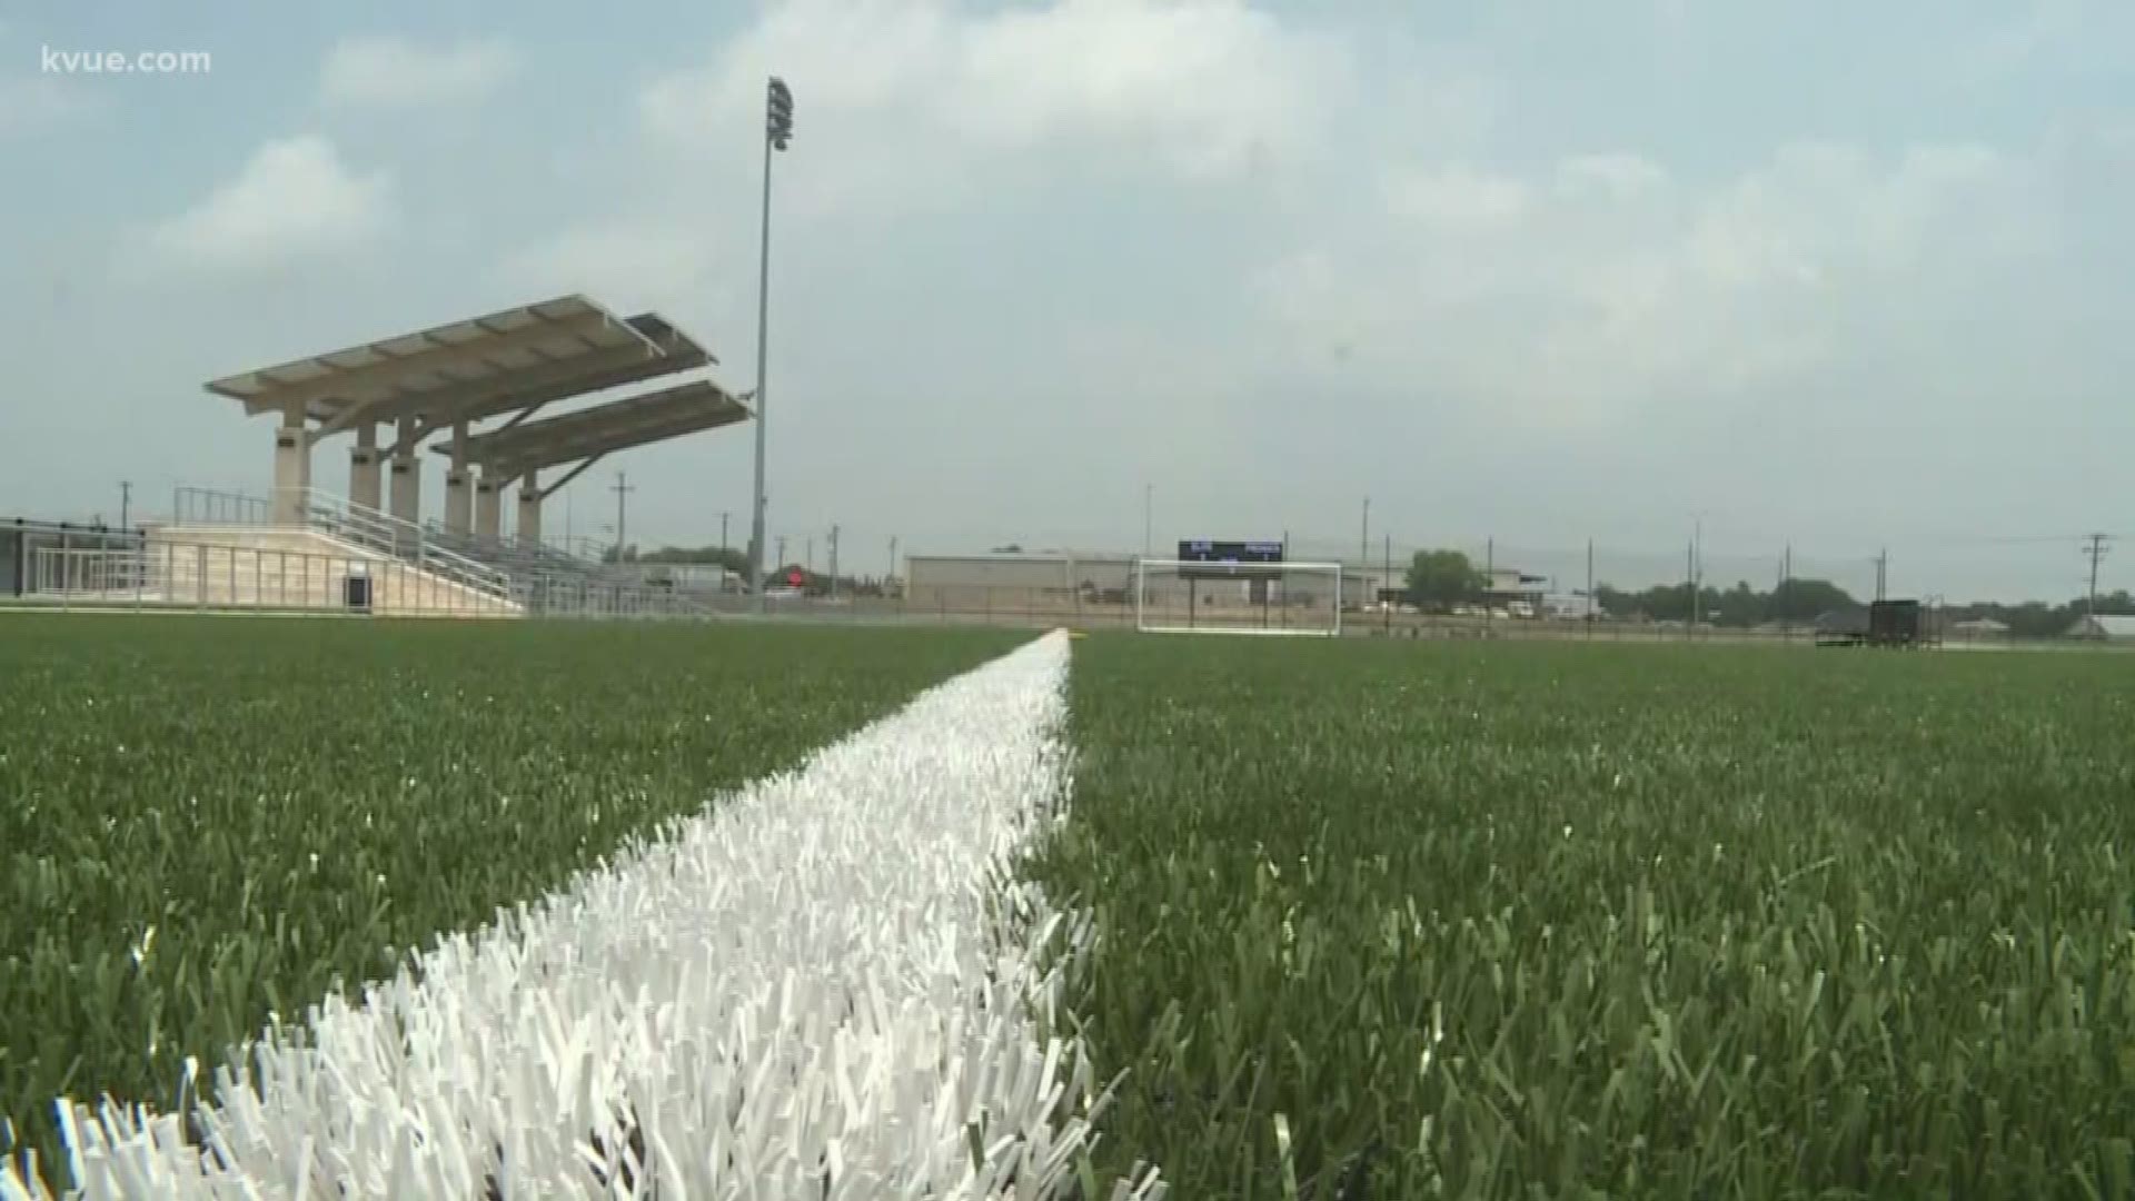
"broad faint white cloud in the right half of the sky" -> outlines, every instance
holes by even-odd
[[[1275,261],[1266,312],[1388,383],[1573,427],[1872,353],[1870,318],[2052,239],[2033,165],[1977,145],[1798,143],[1699,192],[1629,154],[1405,165],[1381,197]]]

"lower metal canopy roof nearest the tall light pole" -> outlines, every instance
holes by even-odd
[[[517,479],[536,468],[628,451],[747,419],[745,404],[711,380],[696,380],[476,434],[468,438],[465,451],[468,462],[489,470],[493,479]],[[433,447],[433,451],[453,453],[450,447]]]

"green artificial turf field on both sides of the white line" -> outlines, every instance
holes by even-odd
[[[1016,641],[0,622],[0,1113],[169,1101]],[[1057,1026],[1121,1075],[1100,1173],[2135,1192],[2118,656],[1093,635],[1068,712],[1025,876],[1095,917]]]

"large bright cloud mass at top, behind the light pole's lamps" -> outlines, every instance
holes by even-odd
[[[1243,0],[1055,0],[971,13],[948,0],[790,0],[702,66],[638,96],[640,180],[502,256],[512,286],[613,288],[630,303],[711,303],[730,327],[754,295],[758,175],[747,147],[764,79],[794,90],[777,167],[781,269],[826,239],[890,250],[914,216],[1044,207],[1059,186],[1281,184],[1337,132],[1349,56]],[[743,152],[745,154],[745,152]],[[1247,192],[1236,192],[1247,194]],[[865,252],[865,250],[860,250]],[[843,267],[839,267],[843,269]]]

